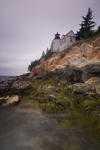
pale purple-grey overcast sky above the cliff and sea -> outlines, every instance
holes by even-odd
[[[100,25],[100,0],[0,0],[0,75],[27,72],[56,32],[79,29],[88,7]]]

